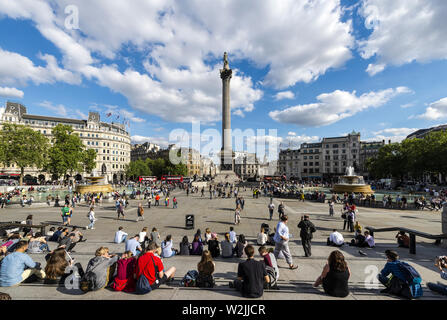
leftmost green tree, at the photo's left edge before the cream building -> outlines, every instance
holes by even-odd
[[[42,133],[23,125],[5,123],[0,136],[0,160],[6,166],[15,164],[20,168],[20,185],[26,167],[40,169],[45,166],[49,143]]]

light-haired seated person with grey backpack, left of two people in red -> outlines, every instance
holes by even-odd
[[[119,256],[116,254],[109,254],[109,248],[98,248],[95,257],[90,259],[85,274],[81,278],[81,290],[87,292],[104,288],[115,273],[118,259]]]

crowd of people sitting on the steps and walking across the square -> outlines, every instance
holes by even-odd
[[[266,188],[269,186],[266,186]],[[175,187],[174,187],[175,188]],[[204,188],[192,188],[182,186],[186,195],[190,192],[201,193],[204,196]],[[148,201],[150,208],[152,199],[155,206],[159,206],[160,198],[165,198],[165,206],[168,206],[170,193],[173,188],[162,189],[146,188],[143,192],[131,194],[131,198],[140,198],[142,195]],[[261,191],[260,191],[261,190]],[[254,197],[257,192],[262,192],[265,188],[253,189]],[[232,185],[220,185],[209,189],[210,199],[213,196],[234,197],[235,198],[235,225],[240,223],[240,212],[245,205],[244,198],[240,195],[239,188]],[[278,288],[279,267],[278,260],[285,259],[290,270],[298,269],[294,263],[289,248],[289,241],[292,237],[289,232],[289,218],[285,213],[282,202],[278,205],[278,218],[273,232],[270,227],[263,223],[256,238],[259,246],[259,258],[256,258],[255,247],[249,244],[244,234],[237,235],[235,227],[229,227],[222,240],[216,232],[206,228],[202,234],[197,230],[190,242],[188,236],[183,236],[181,242],[174,243],[172,235],[167,234],[163,238],[156,227],[149,232],[148,227],[141,229],[141,232],[129,236],[124,228],[120,226],[115,233],[114,242],[124,244],[122,254],[110,254],[107,247],[101,246],[95,256],[90,259],[85,269],[80,263],[75,263],[70,254],[75,246],[80,242],[85,242],[84,235],[76,227],[71,227],[71,215],[74,204],[78,201],[79,195],[73,198],[66,198],[65,205],[61,208],[62,226],[52,227],[46,235],[34,232],[31,227],[23,228],[23,235],[20,233],[9,234],[0,243],[0,286],[13,286],[22,282],[32,282],[42,279],[44,283],[63,284],[68,276],[67,268],[75,267],[80,277],[80,289],[84,292],[96,291],[109,287],[112,290],[134,292],[139,294],[148,293],[170,283],[176,273],[176,268],[165,268],[164,259],[180,256],[198,256],[197,270],[188,271],[183,277],[181,284],[185,286],[198,286],[212,288],[215,286],[213,273],[216,264],[220,259],[241,258],[245,261],[239,262],[237,268],[237,278],[229,282],[230,288],[240,291],[244,297],[257,298],[263,295],[265,289]],[[101,203],[101,194],[88,195],[84,200],[90,204],[87,214],[90,224],[86,229],[94,229],[96,221],[94,207],[96,203]],[[123,193],[114,194],[118,219],[129,203],[127,195]],[[168,199],[166,201],[166,199]],[[334,215],[334,203],[339,199],[329,200],[329,215]],[[336,229],[327,239],[328,246],[337,247],[332,251],[327,259],[321,275],[315,280],[314,287],[322,286],[326,294],[335,297],[346,297],[349,295],[349,278],[351,270],[343,253],[338,250],[344,245],[356,246],[359,248],[373,248],[374,238],[367,230],[363,231],[357,220],[358,210],[354,204],[354,199],[347,195],[344,199],[342,209],[343,230],[347,229],[354,233],[351,242],[345,242],[343,235]],[[74,201],[74,203],[73,203]],[[177,206],[176,198],[173,197],[173,207]],[[324,201],[324,200],[323,200]],[[275,205],[271,199],[268,204],[270,220],[273,219]],[[137,207],[137,219],[144,220],[144,208],[142,203]],[[27,217],[25,224],[32,225],[33,216]],[[304,214],[297,224],[300,229],[301,244],[304,250],[304,257],[312,256],[312,239],[317,227],[310,220],[308,214]],[[163,240],[162,240],[163,239]],[[396,241],[400,247],[409,246],[409,237],[399,232]],[[48,243],[56,242],[57,248],[50,250]],[[271,246],[270,248],[268,246]],[[359,251],[363,253],[362,251]],[[45,254],[46,266],[34,262],[27,254]],[[363,253],[364,254],[364,253]],[[398,254],[393,250],[385,252],[387,262],[378,275],[378,280],[385,286],[384,293],[391,293],[406,298],[416,298],[421,296],[421,278],[417,271],[407,263],[400,261]],[[366,255],[366,254],[365,254]],[[435,265],[441,272],[441,277],[447,280],[445,269],[447,269],[447,258],[437,257]],[[390,277],[391,275],[391,277]],[[409,276],[410,275],[410,276]],[[442,284],[429,283],[431,290],[447,294],[447,286]]]

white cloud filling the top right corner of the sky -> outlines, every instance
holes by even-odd
[[[364,59],[376,57],[370,75],[387,65],[447,59],[447,1],[363,0],[359,12],[372,28],[358,43]]]

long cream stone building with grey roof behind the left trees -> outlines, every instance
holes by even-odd
[[[50,140],[50,143],[55,126],[69,125],[88,149],[94,149],[97,152],[96,168],[93,169],[92,175],[104,176],[109,182],[125,179],[125,168],[130,162],[130,134],[123,124],[101,122],[98,112],[89,112],[87,120],[57,118],[28,114],[25,106],[7,102],[1,124],[5,122],[29,126],[33,130],[40,131]],[[2,167],[0,171],[9,174],[20,172],[19,168],[14,166]],[[36,168],[26,168],[25,175],[46,181],[53,178]],[[74,178],[81,180],[85,176],[90,176],[90,174],[79,172]]]

